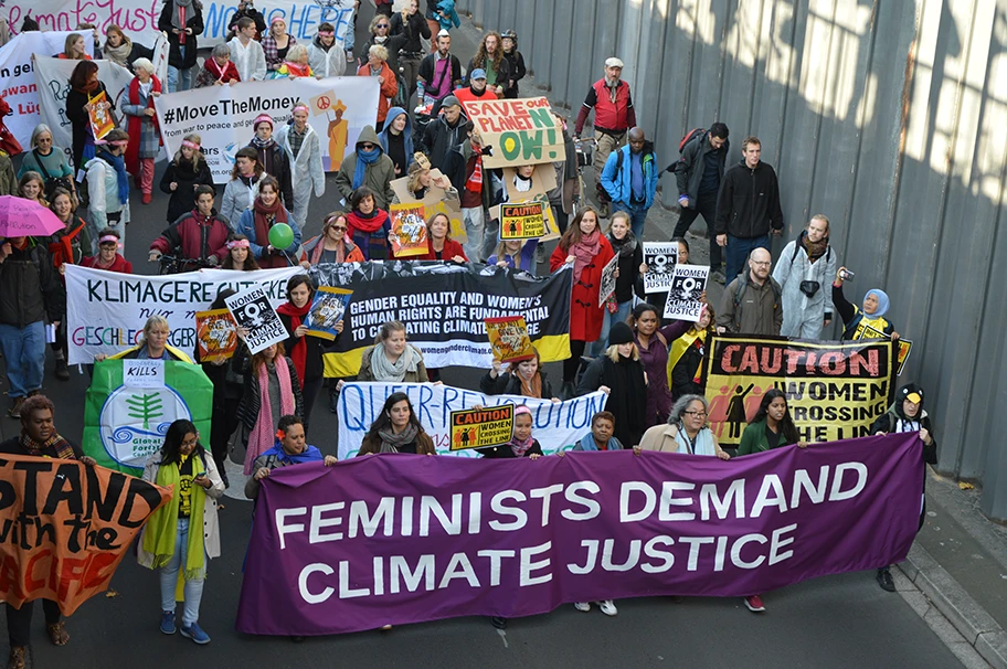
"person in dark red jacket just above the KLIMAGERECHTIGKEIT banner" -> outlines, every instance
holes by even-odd
[[[153,241],[148,259],[156,263],[162,254],[174,252],[192,261],[186,269],[216,267],[227,255],[229,234],[227,221],[213,209],[213,187],[201,184],[195,189],[195,209],[179,216]]]

